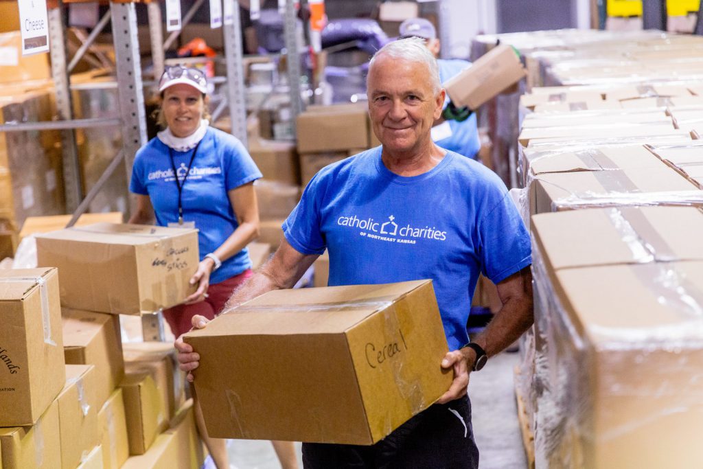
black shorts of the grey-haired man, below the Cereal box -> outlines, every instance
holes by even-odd
[[[434,404],[373,446],[303,443],[303,467],[477,469],[467,396]]]

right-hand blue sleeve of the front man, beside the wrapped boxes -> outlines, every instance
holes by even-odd
[[[478,229],[482,273],[493,283],[499,283],[529,266],[532,259],[529,233],[512,198],[504,187],[502,194],[497,188],[494,191],[499,198],[483,214]]]

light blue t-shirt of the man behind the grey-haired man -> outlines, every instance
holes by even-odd
[[[440,58],[437,60],[437,64],[439,65],[439,80],[442,83],[471,66],[470,62],[459,59],[446,60]],[[446,108],[450,102],[451,99],[449,95],[447,95],[444,100],[444,107]],[[454,151],[459,155],[476,159],[476,155],[481,149],[479,131],[476,127],[476,113],[470,115],[469,118],[463,122],[456,122],[456,120],[450,120],[448,122],[449,128],[451,129],[451,136],[436,140],[434,143],[437,143],[441,148]]]

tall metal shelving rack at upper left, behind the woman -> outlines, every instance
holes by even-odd
[[[56,88],[56,105],[60,120],[52,122],[25,122],[10,123],[0,125],[0,131],[28,131],[28,130],[49,130],[60,129],[61,143],[63,148],[63,176],[65,183],[65,195],[67,210],[73,212],[73,217],[67,226],[75,224],[77,219],[83,214],[91,200],[101,190],[105,181],[115,172],[120,163],[124,160],[124,170],[127,172],[127,181],[131,178],[131,168],[134,164],[136,151],[146,144],[146,115],[144,108],[144,82],[141,74],[141,57],[139,55],[136,3],[138,0],[120,2],[110,1],[109,15],[105,14],[98,22],[93,32],[89,35],[85,44],[77,51],[75,56],[66,66],[66,43],[65,25],[63,23],[63,8],[65,3],[86,2],[90,0],[72,0],[63,2],[53,0],[48,4],[50,54],[51,54],[51,75]],[[224,0],[235,1],[235,0]],[[148,18],[150,23],[150,39],[152,43],[153,62],[155,76],[159,77],[164,70],[164,51],[168,49],[178,36],[179,32],[174,32],[169,36],[165,44],[161,43],[162,38],[162,18],[158,1],[143,1],[148,8]],[[198,0],[193,4],[183,18],[183,27],[193,17],[193,14],[204,3]],[[289,0],[289,3],[290,0]],[[229,104],[229,113],[232,122],[232,133],[243,143],[247,144],[246,116],[244,106],[244,80],[243,80],[243,58],[241,49],[239,8],[233,8],[234,17],[232,25],[224,25],[224,44],[226,60],[226,97],[219,110],[224,110],[224,106]],[[99,118],[99,119],[73,119],[71,103],[70,70],[82,55],[89,49],[89,46],[96,39],[98,34],[107,25],[108,20],[112,22],[112,37],[115,46],[115,60],[117,72],[117,93],[120,102],[120,117]],[[105,84],[114,86],[115,84]],[[80,176],[77,148],[75,143],[75,129],[89,127],[105,127],[119,124],[122,128],[122,149],[115,155],[100,179],[91,188],[91,191],[82,197],[82,181]],[[155,314],[142,317],[143,335],[145,340],[162,340],[164,338],[163,319],[160,311]]]

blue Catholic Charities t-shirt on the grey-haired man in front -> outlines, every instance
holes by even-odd
[[[498,283],[531,264],[529,234],[503,181],[453,152],[412,177],[390,172],[381,147],[325,167],[283,231],[303,254],[329,250],[329,285],[431,278],[450,349],[468,341],[479,272]]]

